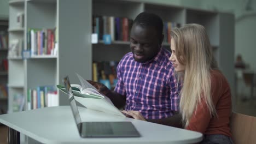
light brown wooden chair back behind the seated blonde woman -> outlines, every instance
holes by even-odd
[[[256,143],[256,117],[232,112],[230,128],[235,144]]]

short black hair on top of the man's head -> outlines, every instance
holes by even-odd
[[[161,17],[153,13],[142,12],[135,17],[133,25],[142,27],[153,27],[159,35],[162,34],[163,22]]]

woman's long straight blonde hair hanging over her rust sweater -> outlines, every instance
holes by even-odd
[[[211,97],[210,71],[218,67],[203,26],[192,23],[182,28],[174,28],[171,38],[176,47],[177,60],[185,65],[185,71],[182,72],[182,77],[179,77],[183,81],[179,106],[183,124],[187,127],[201,100],[206,101],[206,108],[211,115],[217,115]]]

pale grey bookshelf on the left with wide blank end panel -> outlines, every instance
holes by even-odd
[[[14,112],[17,95],[25,99],[24,110],[28,109],[28,89],[55,87],[66,75],[73,83],[78,83],[75,73],[85,79],[91,78],[91,71],[83,66],[89,67],[92,63],[91,44],[88,43],[91,25],[90,20],[84,19],[91,15],[87,14],[90,9],[84,9],[84,5],[91,5],[91,1],[9,1],[9,41],[19,39],[21,43],[18,55],[8,56],[9,112]],[[22,25],[17,22],[19,14],[24,14]],[[22,57],[22,51],[31,50],[31,29],[54,29],[56,52]],[[57,97],[60,98],[59,105],[68,104],[66,95],[57,92]]]

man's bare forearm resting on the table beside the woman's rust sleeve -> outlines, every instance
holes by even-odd
[[[147,119],[147,121],[152,123],[164,124],[164,125],[168,125],[176,128],[183,128],[181,114],[176,114],[171,117],[162,118],[162,119]]]

